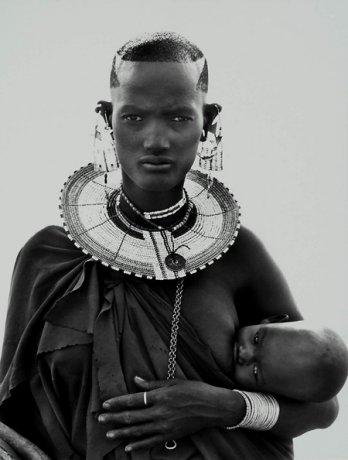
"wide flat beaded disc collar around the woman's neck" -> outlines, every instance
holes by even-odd
[[[211,265],[237,237],[237,201],[215,178],[207,192],[206,174],[187,174],[189,212],[171,230],[149,230],[128,221],[118,206],[120,186],[120,171],[109,172],[106,185],[104,173],[89,164],[68,178],[59,206],[74,244],[114,270],[149,279],[182,278]]]

